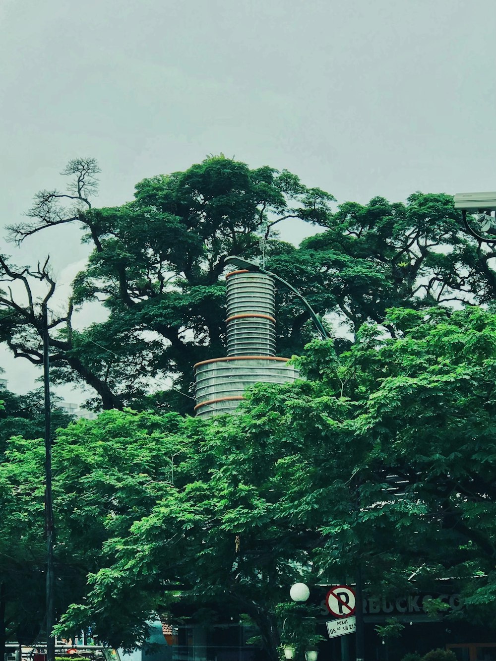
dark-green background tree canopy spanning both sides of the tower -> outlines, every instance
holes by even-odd
[[[220,155],[144,179],[132,202],[98,209],[91,204],[98,173],[94,159],[71,161],[63,171],[71,177],[68,191],[41,191],[30,220],[11,227],[23,241],[79,223],[83,241],[93,245],[67,314],[50,317],[50,346],[54,378],[91,386],[97,408],[191,410],[192,365],[224,354],[228,254],[265,260],[319,315],[344,321],[352,332],[366,321],[384,323],[388,307],[495,297],[495,248],[462,231],[448,195],[415,193],[406,203],[376,197],[335,209],[331,194],[288,171],[250,169]],[[299,248],[278,241],[274,226],[291,218],[323,231]],[[50,303],[56,286],[50,269],[15,268],[5,256],[0,268],[3,282],[24,290],[11,295],[6,287],[0,295],[0,340],[16,356],[40,363],[32,283],[46,285]],[[106,307],[107,321],[73,329],[73,309],[95,300]],[[280,354],[301,353],[312,336],[308,312],[280,290]],[[150,387],[149,377],[157,375],[172,380]]]

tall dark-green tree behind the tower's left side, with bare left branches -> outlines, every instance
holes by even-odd
[[[284,219],[325,224],[334,198],[287,171],[249,169],[221,155],[183,173],[143,180],[132,202],[94,209],[89,193],[97,173],[92,159],[71,161],[63,172],[75,177],[69,192],[40,192],[29,212],[32,221],[11,228],[22,240],[77,221],[86,231],[83,240],[95,248],[88,268],[75,279],[67,315],[51,320],[52,373],[59,381],[94,387],[104,408],[130,401],[140,405],[146,377],[157,373],[171,375],[190,395],[192,365],[224,353],[225,282],[220,276],[226,256],[259,256],[269,225]],[[291,249],[270,241],[265,251]],[[0,264],[4,279],[21,281],[31,300],[30,273],[5,259]],[[46,268],[31,276],[52,286]],[[95,299],[108,309],[108,321],[76,332],[73,305]],[[39,360],[40,320],[32,305],[16,307],[7,295],[0,304],[7,313],[3,339],[18,355]],[[166,406],[167,397],[161,403]],[[191,408],[187,397],[185,406]]]

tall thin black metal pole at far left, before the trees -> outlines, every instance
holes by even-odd
[[[52,434],[50,431],[50,375],[48,309],[42,303],[43,383],[45,395],[45,531],[46,531],[46,658],[55,661],[54,602],[54,508],[52,503]]]

